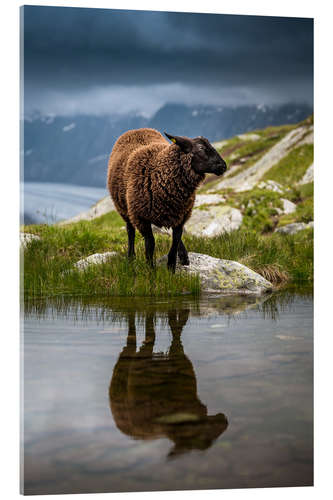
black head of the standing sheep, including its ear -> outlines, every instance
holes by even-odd
[[[184,153],[192,153],[192,168],[198,174],[222,175],[227,170],[227,164],[205,137],[188,137],[165,135]]]

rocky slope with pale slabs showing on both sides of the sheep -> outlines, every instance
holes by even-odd
[[[313,118],[215,143],[227,161],[223,179],[207,176],[185,231],[212,237],[241,227],[260,232],[313,221]],[[114,210],[109,197],[61,224],[92,220]],[[157,232],[160,232],[155,228]],[[162,232],[165,232],[162,230]],[[288,233],[288,228],[281,231]]]

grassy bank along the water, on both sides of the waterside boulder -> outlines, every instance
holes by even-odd
[[[198,295],[200,283],[186,273],[172,275],[165,266],[151,270],[144,259],[144,241],[137,234],[137,258],[126,258],[127,234],[122,219],[114,212],[91,222],[69,226],[26,226],[41,236],[24,251],[23,288],[26,297],[69,295],[174,296]],[[295,235],[259,234],[240,229],[215,238],[185,236],[189,251],[237,260],[275,284],[311,284],[313,274],[313,230]],[[170,238],[156,236],[156,258],[165,255]],[[111,262],[73,269],[79,259],[97,252],[115,250]]]

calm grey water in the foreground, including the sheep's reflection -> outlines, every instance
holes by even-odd
[[[313,301],[24,308],[25,494],[313,484]]]

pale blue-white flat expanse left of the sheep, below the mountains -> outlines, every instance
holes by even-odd
[[[21,219],[26,224],[52,224],[88,210],[107,195],[104,188],[51,182],[22,182]]]

